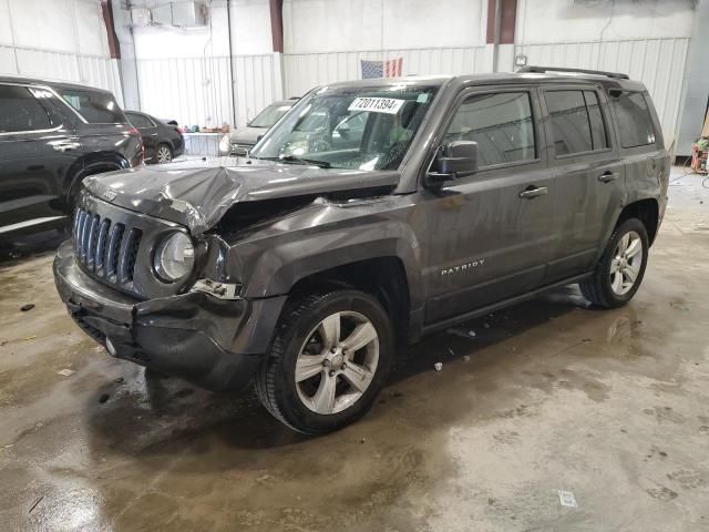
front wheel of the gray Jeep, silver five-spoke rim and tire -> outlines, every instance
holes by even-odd
[[[376,338],[362,344],[372,331]],[[298,432],[322,434],[367,413],[393,352],[389,316],[374,297],[351,289],[310,295],[284,310],[254,387],[276,419]]]

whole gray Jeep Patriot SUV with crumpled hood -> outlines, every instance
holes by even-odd
[[[371,407],[397,341],[573,283],[624,305],[665,212],[657,115],[626,75],[551,70],[337,83],[233,167],[89,177],[59,293],[112,356],[253,381],[307,433]]]

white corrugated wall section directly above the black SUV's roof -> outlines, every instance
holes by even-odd
[[[123,105],[119,63],[111,58],[0,45],[0,72],[107,89]]]

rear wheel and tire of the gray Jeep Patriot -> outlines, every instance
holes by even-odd
[[[641,247],[635,247],[638,245]],[[645,276],[649,247],[643,222],[629,218],[618,224],[593,277],[579,284],[584,297],[602,308],[620,307],[633,299]]]

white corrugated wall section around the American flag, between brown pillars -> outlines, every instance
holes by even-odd
[[[284,55],[286,95],[300,96],[316,85],[358,80],[361,60],[395,58],[403,59],[403,75],[489,72],[492,68],[486,47],[287,53]]]

